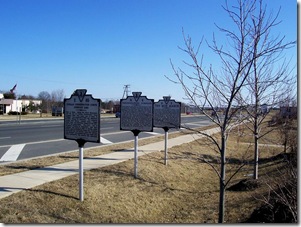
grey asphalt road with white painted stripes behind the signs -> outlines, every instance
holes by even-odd
[[[183,127],[200,127],[210,124],[205,116],[183,116]],[[86,143],[84,148],[96,147],[125,141],[133,141],[132,132],[120,131],[119,118],[101,118],[101,143]],[[1,121],[0,122],[0,163],[52,155],[78,150],[77,143],[65,140],[63,119]],[[171,129],[170,132],[175,131]],[[164,134],[161,128],[153,132],[141,132],[139,138]]]

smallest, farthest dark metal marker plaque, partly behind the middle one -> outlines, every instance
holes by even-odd
[[[163,100],[154,103],[154,127],[180,128],[181,103],[163,96]]]

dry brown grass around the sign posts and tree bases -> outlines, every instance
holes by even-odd
[[[137,179],[133,160],[86,171],[83,202],[78,200],[78,175],[13,194],[1,199],[0,222],[217,223],[219,181],[201,155],[207,155],[218,168],[218,154],[204,144],[198,140],[169,149],[167,166],[164,152],[140,156]],[[247,146],[235,138],[229,140],[227,157],[238,161],[227,164],[228,178],[240,166],[239,160],[249,158],[245,154]],[[282,151],[270,149],[263,147],[261,157]],[[261,164],[259,176],[264,178],[265,173],[281,165],[272,161]],[[251,169],[252,165],[246,165],[231,184],[246,178]],[[254,195],[264,190],[262,185],[254,191],[227,191],[225,222],[239,223],[248,218],[259,205]]]

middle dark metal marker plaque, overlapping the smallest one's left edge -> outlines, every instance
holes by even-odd
[[[120,130],[153,131],[153,99],[133,92],[120,100]]]

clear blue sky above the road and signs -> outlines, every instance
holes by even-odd
[[[233,0],[230,0],[233,2]],[[297,2],[267,0],[282,23],[276,33],[297,39]],[[170,59],[180,66],[182,28],[197,44],[219,37],[214,23],[229,18],[222,0],[0,0],[0,91],[17,95],[75,89],[102,100],[120,99],[123,87],[158,100],[183,102]],[[214,62],[205,51],[207,62]],[[297,52],[289,57],[296,61]]]

